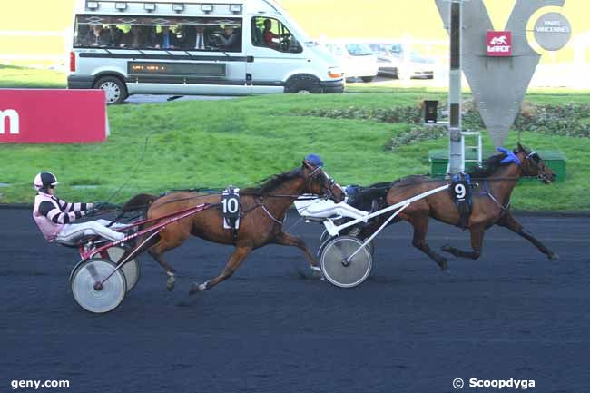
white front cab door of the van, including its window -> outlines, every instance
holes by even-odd
[[[251,18],[247,64],[252,93],[282,93],[287,78],[305,72],[307,60],[297,37],[280,20],[268,16]]]

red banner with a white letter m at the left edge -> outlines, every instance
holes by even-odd
[[[0,143],[92,143],[107,134],[102,90],[0,89]]]

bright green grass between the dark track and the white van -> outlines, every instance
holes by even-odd
[[[114,201],[139,192],[250,185],[294,168],[310,152],[324,158],[326,170],[341,184],[428,173],[428,151],[447,147],[446,139],[390,152],[384,149],[385,144],[407,131],[409,124],[301,117],[293,112],[349,106],[385,108],[418,104],[433,96],[445,99],[446,93],[418,88],[396,93],[272,95],[113,106],[108,109],[112,134],[107,142],[0,145],[0,182],[11,184],[0,188],[0,203],[33,201],[31,184],[35,173],[42,170],[58,176],[59,195],[72,201],[104,200],[123,185]],[[588,98],[571,92],[528,97],[537,103],[587,103]],[[565,152],[567,179],[550,185],[518,186],[514,206],[535,211],[590,210],[590,201],[585,198],[590,189],[590,140],[539,133],[522,133],[521,137],[532,148]],[[490,146],[487,138],[485,141]],[[506,146],[515,144],[516,135],[512,134]],[[73,187],[76,185],[97,187]]]

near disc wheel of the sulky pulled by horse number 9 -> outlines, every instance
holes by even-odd
[[[353,236],[339,236],[323,247],[321,270],[329,282],[340,288],[351,288],[367,280],[373,257],[367,247],[361,247],[362,243]],[[351,257],[357,250],[359,252]]]

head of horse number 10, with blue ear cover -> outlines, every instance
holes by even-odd
[[[344,201],[344,189],[323,170],[323,162],[319,156],[310,154],[305,157],[301,172],[306,180],[305,192],[324,196],[337,203]]]

